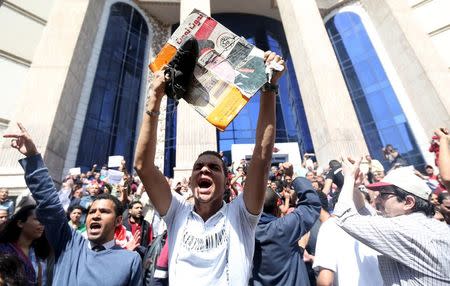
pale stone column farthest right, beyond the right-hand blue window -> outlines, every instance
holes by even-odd
[[[361,4],[377,28],[426,134],[431,137],[435,128],[450,126],[450,73],[407,1],[361,0]],[[418,142],[424,146],[422,150],[428,147],[429,137]]]

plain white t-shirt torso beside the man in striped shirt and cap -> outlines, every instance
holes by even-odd
[[[317,285],[379,286],[378,252],[357,241],[337,224],[335,218],[319,230],[313,268],[319,272]]]

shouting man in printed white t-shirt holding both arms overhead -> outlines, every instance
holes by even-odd
[[[284,65],[283,59],[272,52],[266,52],[264,59],[266,64],[274,61]],[[170,80],[164,71],[155,74],[136,148],[135,169],[168,226],[170,285],[248,283],[255,228],[275,140],[276,83],[281,74],[274,72],[271,82],[262,89],[256,143],[244,192],[228,205],[223,201],[227,168],[219,153],[206,151],[194,163],[189,182],[194,205],[171,192],[155,167],[158,114]]]

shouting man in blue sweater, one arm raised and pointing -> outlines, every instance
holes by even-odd
[[[122,220],[121,204],[108,194],[97,196],[86,217],[84,239],[67,223],[48,169],[28,132],[3,135],[26,158],[20,160],[25,181],[36,200],[36,216],[55,252],[53,285],[142,285],[141,259],[115,245],[114,229]]]

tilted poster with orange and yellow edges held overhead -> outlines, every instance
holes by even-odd
[[[264,52],[199,10],[193,10],[155,60],[152,72],[168,64],[189,37],[199,44],[194,79],[185,100],[223,131],[267,82]]]

